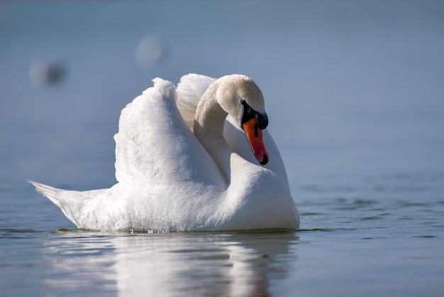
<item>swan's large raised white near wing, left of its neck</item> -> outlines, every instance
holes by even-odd
[[[160,78],[153,82],[121,112],[114,136],[116,179],[146,185],[223,183],[216,163],[179,114],[174,85]]]

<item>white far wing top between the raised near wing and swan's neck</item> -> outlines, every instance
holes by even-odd
[[[190,73],[180,78],[177,85],[177,107],[189,129],[193,129],[194,115],[199,100],[216,78]]]

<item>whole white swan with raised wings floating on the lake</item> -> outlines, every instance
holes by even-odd
[[[284,163],[250,77],[184,75],[121,112],[116,185],[75,191],[34,181],[78,228],[99,231],[297,229]]]

